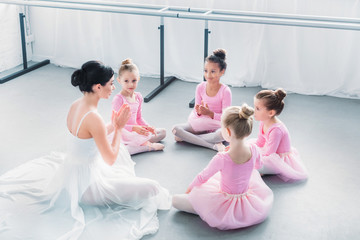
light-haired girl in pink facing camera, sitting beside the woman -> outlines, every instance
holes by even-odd
[[[141,116],[143,97],[139,92],[135,92],[140,75],[131,59],[122,62],[117,80],[122,89],[114,97],[112,108],[118,111],[123,104],[128,104],[131,108],[131,117],[122,132],[122,140],[129,153],[133,155],[164,149],[164,145],[158,142],[165,138],[166,130],[149,126]]]

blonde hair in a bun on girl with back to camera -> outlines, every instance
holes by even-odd
[[[254,109],[244,103],[241,107],[230,106],[225,109],[221,121],[231,128],[237,139],[247,137],[252,132]]]

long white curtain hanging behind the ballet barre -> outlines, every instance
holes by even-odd
[[[114,0],[115,1],[115,0]],[[131,2],[135,1],[121,1]],[[136,3],[360,18],[359,0],[138,0]],[[79,67],[98,59],[118,69],[132,58],[159,76],[159,17],[30,8],[34,59]],[[165,18],[165,75],[202,81],[204,21]],[[223,82],[360,98],[360,32],[209,22],[209,53],[227,50]]]

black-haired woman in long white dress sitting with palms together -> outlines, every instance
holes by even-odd
[[[68,112],[67,153],[0,176],[0,239],[140,239],[158,230],[157,210],[169,209],[171,199],[156,181],[135,176],[120,143],[129,107],[113,112],[109,125],[97,112],[115,89],[113,75],[98,61],[76,70],[71,83],[83,97]]]

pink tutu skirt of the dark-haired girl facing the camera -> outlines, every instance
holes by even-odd
[[[208,116],[199,116],[195,111],[189,115],[188,122],[195,132],[215,131],[221,128],[221,122]]]

